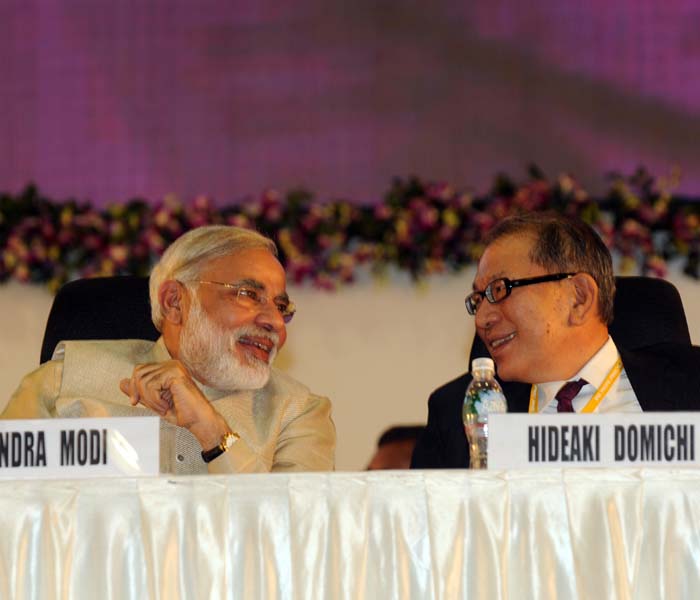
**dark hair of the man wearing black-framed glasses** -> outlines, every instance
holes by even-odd
[[[484,239],[485,246],[511,235],[531,235],[530,260],[554,272],[584,272],[598,285],[598,314],[613,320],[615,275],[610,251],[596,231],[580,219],[554,212],[523,213],[501,221]]]

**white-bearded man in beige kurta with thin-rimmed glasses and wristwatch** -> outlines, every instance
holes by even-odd
[[[271,367],[294,308],[270,244],[186,234],[151,276],[158,341],[62,342],[2,418],[160,415],[167,473],[332,470],[330,402]]]

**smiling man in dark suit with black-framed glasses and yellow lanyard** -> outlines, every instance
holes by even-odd
[[[608,333],[615,279],[608,249],[585,223],[551,213],[513,217],[485,240],[466,298],[493,357],[509,412],[641,412],[700,407],[700,348],[618,347]],[[464,468],[469,374],[438,388],[413,468]],[[565,401],[567,382],[578,393]]]

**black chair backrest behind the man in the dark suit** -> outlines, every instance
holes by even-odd
[[[691,344],[683,302],[675,286],[652,277],[616,277],[613,322],[610,336],[626,350],[636,350],[662,342]],[[474,336],[469,364],[474,358],[489,356],[479,336]]]

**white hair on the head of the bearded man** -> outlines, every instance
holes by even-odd
[[[195,280],[207,262],[248,248],[263,248],[277,256],[277,246],[271,239],[241,227],[206,225],[192,229],[175,240],[153,267],[149,280],[151,319],[156,329],[161,331],[163,324],[163,308],[158,299],[158,290],[163,282],[170,279],[182,282]]]

